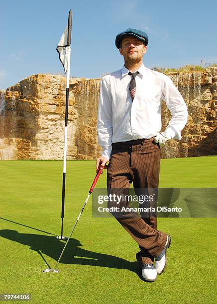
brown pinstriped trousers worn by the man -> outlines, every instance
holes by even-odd
[[[132,182],[134,189],[158,188],[160,153],[154,137],[112,143],[107,171],[108,194],[127,195]],[[108,207],[112,204],[108,201]],[[123,202],[120,204],[125,206]],[[115,218],[138,243],[140,264],[153,263],[154,257],[161,253],[167,240],[167,234],[157,230],[156,216],[142,218],[126,213],[123,217]]]

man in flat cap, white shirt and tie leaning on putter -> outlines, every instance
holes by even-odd
[[[103,153],[97,159],[96,169],[109,161],[108,193],[127,195],[132,182],[137,193],[139,189],[144,190],[141,193],[145,189],[157,189],[161,147],[167,140],[180,140],[187,123],[187,106],[172,80],[143,65],[147,44],[148,36],[143,31],[128,28],[119,33],[115,46],[124,58],[124,65],[101,80],[98,140]],[[166,102],[172,119],[160,133],[161,100]],[[121,202],[121,206],[124,204]],[[109,201],[108,206],[114,206],[114,202]],[[145,281],[155,281],[167,265],[170,235],[157,230],[153,214],[112,215],[139,245],[136,259],[142,277]]]

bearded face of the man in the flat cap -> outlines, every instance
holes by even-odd
[[[147,46],[134,36],[126,36],[122,39],[122,48],[119,48],[120,55],[124,57],[125,63],[136,64],[143,58]]]

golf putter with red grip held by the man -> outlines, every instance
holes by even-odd
[[[100,168],[100,165],[99,165],[99,168]],[[104,168],[107,168],[107,165],[106,165]],[[104,169],[104,168],[103,168],[103,169]],[[69,234],[69,237],[68,237],[68,239],[67,239],[67,242],[66,242],[66,244],[65,244],[65,246],[64,246],[64,248],[63,248],[63,250],[62,250],[62,252],[61,252],[61,254],[60,254],[60,257],[59,257],[57,263],[56,263],[56,268],[55,268],[55,269],[49,269],[49,268],[47,268],[47,269],[44,269],[43,272],[60,272],[60,271],[57,269],[57,266],[58,266],[58,264],[59,264],[59,262],[60,262],[60,259],[61,259],[62,255],[63,255],[63,253],[64,253],[64,251],[65,251],[65,249],[66,249],[66,246],[67,246],[67,244],[68,244],[68,242],[69,242],[69,240],[70,240],[70,237],[71,237],[73,231],[75,230],[75,227],[76,227],[76,225],[77,225],[77,223],[78,223],[78,221],[79,221],[79,219],[80,219],[80,216],[81,216],[81,214],[82,214],[82,212],[83,212],[83,210],[84,210],[84,208],[85,208],[85,206],[86,206],[86,204],[87,204],[87,202],[88,202],[88,200],[89,200],[89,197],[91,196],[91,193],[92,193],[93,190],[94,190],[94,187],[95,187],[95,185],[96,185],[96,183],[97,183],[97,181],[98,181],[98,178],[100,177],[101,173],[103,173],[103,169],[98,169],[98,171],[97,171],[97,174],[96,174],[96,176],[95,176],[95,178],[94,178],[94,181],[93,181],[93,183],[92,183],[92,186],[91,186],[91,188],[90,188],[90,190],[89,190],[89,193],[88,193],[88,196],[87,196],[87,198],[86,198],[86,201],[84,202],[84,205],[82,206],[82,209],[81,209],[81,211],[80,211],[80,214],[79,214],[79,216],[78,216],[78,218],[77,218],[77,220],[76,220],[76,222],[75,222],[75,225],[73,226],[72,231],[71,231],[71,233]]]

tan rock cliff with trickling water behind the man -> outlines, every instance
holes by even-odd
[[[217,153],[217,68],[169,75],[188,106],[181,141],[162,148],[162,158]],[[67,159],[96,159],[100,79],[71,78]],[[0,159],[63,159],[66,78],[33,75],[0,91]],[[171,119],[162,103],[162,130]]]

